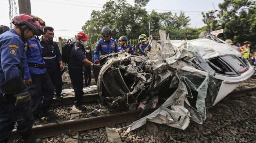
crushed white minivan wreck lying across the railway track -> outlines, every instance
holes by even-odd
[[[201,124],[207,108],[254,73],[240,52],[207,32],[189,41],[170,41],[165,31],[159,33],[149,39],[150,52],[136,45],[134,55],[109,54],[100,60],[102,65],[93,66],[103,102],[126,110],[142,108],[140,120],[127,132],[146,121],[183,130],[190,120]],[[141,118],[151,108],[157,109]]]

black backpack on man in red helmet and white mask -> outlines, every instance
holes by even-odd
[[[69,54],[74,43],[76,43],[76,41],[72,42],[71,39],[68,39],[67,42],[62,45],[62,60],[64,63],[69,63]]]

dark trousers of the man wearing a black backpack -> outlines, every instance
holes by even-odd
[[[83,82],[82,67],[79,70],[69,67],[69,77],[71,79],[71,83],[74,88],[74,96],[75,96],[74,104],[76,106],[79,106],[82,104],[82,96],[84,94],[84,92],[83,92],[84,82]]]

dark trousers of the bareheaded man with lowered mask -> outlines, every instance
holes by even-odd
[[[52,69],[52,70],[47,69],[47,73],[51,78],[51,81],[56,91],[56,95],[59,96],[62,91],[62,76],[60,73],[60,69],[59,68]]]

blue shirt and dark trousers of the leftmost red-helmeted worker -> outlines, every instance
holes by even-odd
[[[0,35],[0,84],[16,76],[24,77],[25,47],[20,36],[11,29]],[[32,129],[34,118],[30,105],[15,106],[16,97],[0,88],[0,141],[7,141],[18,123],[17,132],[22,134]]]

